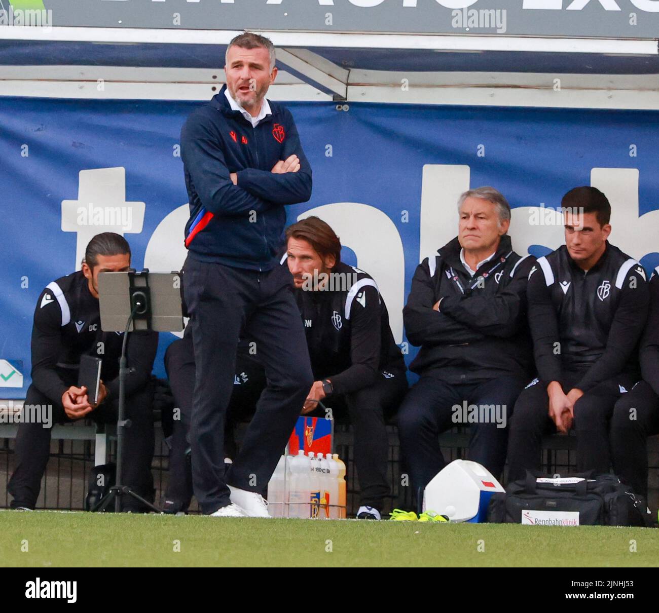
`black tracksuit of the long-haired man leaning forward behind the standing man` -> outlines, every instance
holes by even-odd
[[[405,361],[375,280],[341,262],[332,273],[345,279],[343,284],[334,290],[297,288],[295,298],[314,380],[329,379],[333,386],[322,402],[333,413],[347,408],[355,430],[360,504],[382,511],[391,489],[386,415],[395,412],[407,390]],[[325,416],[322,409],[310,414]]]

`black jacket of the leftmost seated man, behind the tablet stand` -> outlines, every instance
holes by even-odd
[[[71,385],[77,385],[80,356],[103,360],[101,379],[110,396],[119,394],[119,358],[123,333],[101,331],[98,298],[89,291],[82,271],[49,283],[40,294],[32,327],[32,385],[53,402],[61,402]],[[126,356],[130,373],[126,396],[151,378],[158,350],[158,333],[129,334]]]

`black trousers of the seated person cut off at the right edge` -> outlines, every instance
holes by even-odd
[[[611,461],[620,481],[648,496],[647,439],[659,434],[659,396],[645,381],[620,396],[611,417]]]

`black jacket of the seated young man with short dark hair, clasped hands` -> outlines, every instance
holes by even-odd
[[[538,375],[563,381],[567,370],[583,377],[584,392],[619,373],[638,369],[637,344],[648,314],[645,270],[606,242],[585,272],[565,245],[540,257],[529,273],[529,325]]]

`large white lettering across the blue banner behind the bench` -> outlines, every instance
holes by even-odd
[[[428,253],[449,242],[457,234],[457,200],[470,185],[467,165],[426,164],[422,170],[419,261]],[[612,207],[612,242],[635,259],[657,251],[659,210],[639,217],[639,171],[633,168],[594,168],[590,184],[604,192]],[[94,202],[95,206],[131,207],[132,231],[142,232],[144,202],[125,201],[125,169],[107,168],[80,171],[78,200],[62,201],[62,230],[76,232],[76,259],[80,267],[84,248],[94,234],[117,232],[121,227],[101,228],[80,226],[76,211],[80,205]],[[551,203],[550,203],[551,204]],[[557,203],[558,204],[558,203]],[[529,247],[544,246],[550,250],[563,244],[561,224],[533,225],[530,215],[537,206],[512,209],[509,234],[517,253],[526,255]],[[543,211],[546,212],[549,209]],[[152,234],[144,255],[144,267],[152,270],[180,270],[186,257],[181,240],[189,217],[189,206],[177,207],[159,223]],[[558,211],[556,215],[560,215]],[[380,294],[389,311],[389,321],[395,342],[403,341],[403,304],[405,303],[405,253],[396,225],[378,207],[359,202],[335,202],[314,207],[299,215],[304,219],[318,215],[331,225],[341,242],[357,255],[358,265],[376,280]],[[535,215],[537,217],[537,215]],[[183,336],[183,333],[177,333]]]

